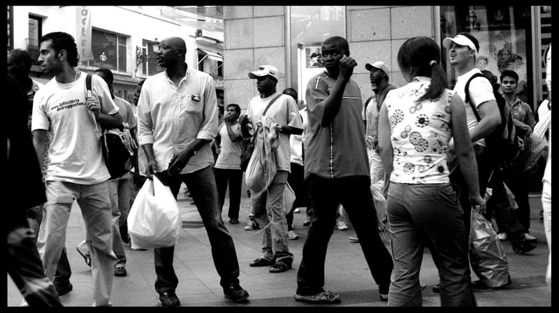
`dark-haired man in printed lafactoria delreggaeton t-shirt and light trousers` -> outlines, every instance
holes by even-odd
[[[93,305],[110,305],[117,257],[112,252],[111,206],[108,169],[101,152],[101,127],[115,128],[122,116],[112,101],[106,82],[92,77],[92,97],[87,96],[84,73],[78,66],[74,38],[63,32],[46,34],[38,61],[43,71],[55,75],[34,98],[31,129],[40,162],[48,134],[47,202],[37,248],[45,274],[54,277],[74,200],[85,221],[86,241],[92,256]]]

